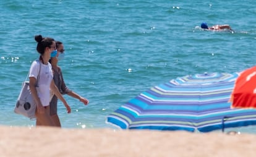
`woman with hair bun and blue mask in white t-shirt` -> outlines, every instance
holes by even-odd
[[[56,43],[53,38],[43,38],[41,35],[36,35],[35,40],[38,43],[36,50],[40,53],[40,58],[33,61],[30,67],[29,87],[36,102],[36,125],[55,126],[49,116],[50,90],[64,103],[67,112],[71,112],[66,100],[54,84],[51,64],[48,62],[51,56],[57,54]]]

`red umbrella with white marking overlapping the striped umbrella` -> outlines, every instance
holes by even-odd
[[[231,108],[256,108],[256,66],[237,77],[230,101]]]

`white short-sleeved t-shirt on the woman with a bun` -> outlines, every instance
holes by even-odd
[[[39,64],[40,63],[40,66]],[[40,69],[38,87],[36,87],[37,95],[40,98],[43,106],[48,106],[50,101],[50,84],[53,80],[53,71],[51,70],[51,64],[42,64],[40,61],[33,61],[30,67],[29,77],[37,78]]]

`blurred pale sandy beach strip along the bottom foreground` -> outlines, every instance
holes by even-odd
[[[0,126],[0,156],[255,156],[256,135]]]

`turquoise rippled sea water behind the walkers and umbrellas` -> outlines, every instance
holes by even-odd
[[[106,116],[150,87],[256,63],[256,1],[0,0],[0,10],[0,125],[35,127],[14,106],[39,34],[64,43],[66,85],[90,101],[64,96],[72,108],[58,104],[64,128],[112,128]],[[202,22],[234,32],[203,31]]]

